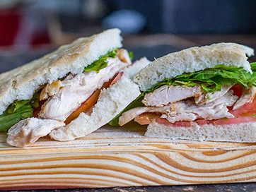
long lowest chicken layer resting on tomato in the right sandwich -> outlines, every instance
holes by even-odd
[[[176,121],[194,121],[196,119],[221,119],[221,118],[233,118],[233,114],[228,112],[228,106],[233,106],[237,96],[233,95],[233,91],[230,90],[215,100],[214,102],[197,106],[191,102],[175,102],[173,104],[165,105],[164,107],[136,107],[127,112],[124,112],[120,116],[120,126],[127,124],[132,119],[136,118],[140,114],[146,112],[161,113],[161,118],[168,119],[171,123]]]

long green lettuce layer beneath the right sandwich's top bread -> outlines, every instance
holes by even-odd
[[[151,89],[142,92],[134,102],[129,104],[120,114],[117,114],[109,124],[110,126],[118,126],[118,120],[124,112],[134,107],[144,106],[141,102],[144,95],[153,92],[163,85],[186,85],[189,87],[198,85],[205,92],[215,92],[221,90],[222,85],[232,84],[240,84],[246,88],[251,86],[256,87],[256,62],[251,63],[250,66],[252,68],[252,74],[245,71],[242,67],[219,65],[214,68],[206,68],[203,71],[183,73],[175,78],[165,79],[154,85]]]

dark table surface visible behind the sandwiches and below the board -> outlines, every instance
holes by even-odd
[[[256,35],[139,35],[124,37],[124,47],[134,52],[135,59],[147,56],[153,60],[154,57],[163,56],[169,52],[175,52],[187,47],[211,44],[214,42],[238,42],[256,49]],[[0,73],[7,71],[25,62],[31,61],[38,56],[50,52],[54,47],[36,49],[35,51],[1,52]],[[252,58],[252,61],[255,58]],[[52,191],[52,190],[35,190]],[[62,189],[56,192],[162,192],[162,191],[256,191],[256,183],[249,184],[211,184],[194,186],[151,186],[151,187],[129,187],[129,188],[85,188],[85,189]]]

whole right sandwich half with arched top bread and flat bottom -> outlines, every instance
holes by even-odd
[[[147,125],[145,136],[256,142],[256,63],[241,44],[192,47],[151,62],[134,76],[142,93],[115,119]]]

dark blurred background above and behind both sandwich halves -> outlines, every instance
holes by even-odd
[[[255,0],[1,0],[0,73],[107,28],[135,59],[213,42],[256,48],[255,10]]]

